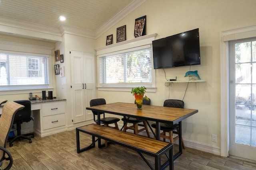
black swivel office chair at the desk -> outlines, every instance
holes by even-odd
[[[14,117],[14,122],[13,124],[16,124],[17,128],[17,136],[15,136],[9,143],[9,146],[13,146],[13,142],[20,140],[20,139],[28,139],[29,143],[32,143],[31,138],[34,137],[34,133],[28,133],[28,134],[22,134],[21,135],[21,124],[23,122],[29,122],[30,120],[34,120],[34,117],[31,115],[31,102],[29,100],[17,100],[14,101],[18,104],[21,104],[24,107],[24,109],[17,111],[15,117]],[[28,136],[31,136],[28,137]]]

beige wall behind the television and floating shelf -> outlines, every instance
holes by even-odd
[[[255,0],[147,0],[122,21],[98,37],[96,48],[106,45],[106,36],[113,34],[116,43],[116,28],[126,25],[126,39],[134,39],[134,21],[146,15],[146,34],[157,33],[156,39],[183,31],[199,28],[201,65],[191,66],[198,70],[206,82],[188,84],[184,98],[185,107],[198,109],[198,113],[182,121],[183,138],[206,146],[220,148],[220,32],[227,29],[254,25]],[[177,76],[187,80],[184,75],[189,66],[166,68],[166,78]],[[156,70],[156,92],[147,92],[152,105],[162,106],[164,100],[182,100],[186,83],[165,86],[164,71]],[[98,91],[98,98],[111,102],[134,102],[130,92]],[[217,143],[211,135],[217,135]]]

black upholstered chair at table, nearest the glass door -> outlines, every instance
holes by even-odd
[[[176,107],[176,108],[184,108],[184,102],[182,100],[165,100],[164,101],[164,107]],[[151,127],[156,129],[156,123],[153,123]],[[164,139],[170,139],[170,143],[174,143],[174,141],[179,139],[179,129],[178,129],[178,124],[168,124],[168,123],[160,123],[160,130],[163,132],[160,134],[160,137]],[[155,131],[156,133],[156,131]],[[166,136],[166,133],[169,133],[169,136]],[[172,134],[177,134],[176,137],[173,137]],[[182,147],[185,149],[184,141],[182,139]]]

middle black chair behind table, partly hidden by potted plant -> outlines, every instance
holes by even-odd
[[[136,104],[136,102],[134,102]],[[143,98],[142,101],[142,106],[143,105],[150,105],[150,99],[146,100],[146,98]],[[124,117],[122,118],[122,121],[124,121],[124,126],[123,126],[123,131],[126,132],[127,129],[133,130],[133,133],[135,135],[138,135],[138,133],[146,130],[146,133],[148,137],[150,137],[149,132],[148,132],[148,127],[146,124],[146,121],[144,119],[137,119],[134,117]],[[142,122],[142,124],[141,124]],[[127,126],[127,123],[132,123],[132,126]],[[143,127],[142,129],[138,129],[138,127],[141,126]]]

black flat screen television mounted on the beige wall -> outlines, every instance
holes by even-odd
[[[154,69],[199,65],[199,29],[152,41]]]

